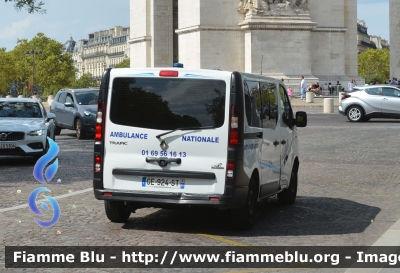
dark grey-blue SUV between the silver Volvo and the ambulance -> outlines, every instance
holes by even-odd
[[[50,112],[56,115],[55,134],[70,129],[76,131],[78,139],[94,135],[98,99],[98,88],[60,90],[50,107]]]

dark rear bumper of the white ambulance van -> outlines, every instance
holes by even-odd
[[[96,199],[132,202],[134,203],[133,206],[137,208],[168,208],[175,206],[207,206],[221,209],[240,208],[244,206],[248,193],[247,186],[226,186],[225,194],[221,195],[96,189],[96,180],[93,181],[93,186]],[[112,196],[104,196],[104,192],[112,193]],[[219,200],[210,201],[211,197],[217,197]]]

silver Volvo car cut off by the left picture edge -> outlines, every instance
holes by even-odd
[[[0,99],[0,155],[34,156],[47,152],[55,140],[55,115],[36,99]]]

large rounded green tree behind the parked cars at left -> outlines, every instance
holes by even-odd
[[[31,50],[40,51],[41,55],[26,55]],[[71,54],[63,53],[62,44],[43,33],[38,33],[31,41],[18,40],[10,53],[16,69],[14,78],[32,84],[34,64],[34,85],[44,90],[43,95],[54,93],[74,81],[75,68]]]

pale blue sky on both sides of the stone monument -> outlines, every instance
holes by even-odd
[[[129,26],[129,0],[42,1],[46,14],[17,11],[12,2],[0,0],[0,48],[12,50],[17,39],[30,40],[39,32],[64,43],[70,35],[77,41],[95,31]],[[389,0],[357,0],[357,4],[357,18],[366,22],[368,34],[389,40]]]

